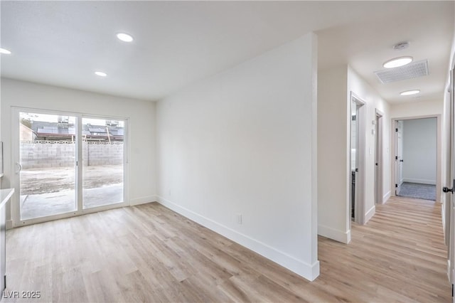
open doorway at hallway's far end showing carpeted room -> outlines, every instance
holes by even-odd
[[[395,195],[437,200],[437,118],[395,122]]]

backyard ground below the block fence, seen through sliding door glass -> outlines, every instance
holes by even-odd
[[[84,166],[82,170],[83,208],[124,201],[123,165]],[[21,171],[21,220],[75,211],[76,204],[74,167]]]

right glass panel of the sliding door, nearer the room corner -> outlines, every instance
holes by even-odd
[[[82,117],[82,206],[124,201],[124,125],[119,119]]]

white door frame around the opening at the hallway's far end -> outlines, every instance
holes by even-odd
[[[412,120],[412,119],[425,119],[425,118],[436,118],[437,124],[437,134],[436,134],[436,202],[441,203],[441,152],[442,152],[442,135],[441,135],[441,115],[422,115],[422,116],[411,116],[411,117],[397,117],[392,118],[392,123],[390,125],[390,138],[392,139],[392,144],[390,147],[390,195],[395,195],[395,179],[396,179],[396,169],[395,169],[395,156],[396,156],[396,145],[397,138],[395,136],[395,125],[397,121],[400,120]]]

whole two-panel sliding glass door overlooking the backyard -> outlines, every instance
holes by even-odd
[[[13,183],[23,224],[125,204],[127,120],[15,109]]]

